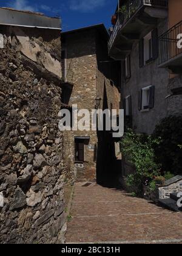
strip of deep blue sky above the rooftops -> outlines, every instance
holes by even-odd
[[[42,12],[45,15],[62,18],[62,30],[104,23],[111,26],[110,20],[118,0],[0,0],[1,7]]]

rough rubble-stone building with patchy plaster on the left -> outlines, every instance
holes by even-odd
[[[0,243],[63,243],[58,18],[0,9]]]

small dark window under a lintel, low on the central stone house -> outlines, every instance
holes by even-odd
[[[85,161],[85,145],[89,144],[90,137],[75,137],[75,162]]]

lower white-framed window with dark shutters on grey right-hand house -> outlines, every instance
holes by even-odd
[[[155,87],[150,85],[139,93],[139,110],[149,110],[154,107]]]

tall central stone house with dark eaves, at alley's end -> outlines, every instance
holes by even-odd
[[[95,107],[120,108],[120,63],[108,57],[108,39],[103,24],[61,34],[62,76],[69,84],[62,101],[68,107],[77,104],[78,110],[89,112]],[[107,172],[115,173],[112,132],[65,131],[64,160],[77,180],[97,178],[103,183]]]

